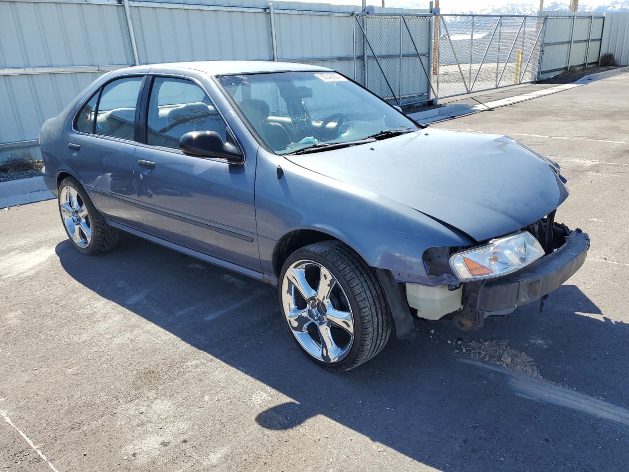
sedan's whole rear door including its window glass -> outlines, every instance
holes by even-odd
[[[136,109],[143,76],[103,85],[79,110],[69,136],[67,162],[106,217],[143,229],[135,202],[133,164]]]

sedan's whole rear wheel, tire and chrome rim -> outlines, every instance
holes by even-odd
[[[61,181],[57,201],[65,232],[76,249],[91,255],[118,244],[118,229],[108,225],[77,179]]]

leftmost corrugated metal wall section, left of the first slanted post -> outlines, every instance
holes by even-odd
[[[125,13],[116,4],[0,1],[0,18],[3,160],[16,152],[6,143],[36,140],[43,121],[57,115],[103,73],[50,69],[54,73],[30,74],[25,68],[120,66],[133,62],[133,57]],[[31,151],[37,155],[36,142]]]

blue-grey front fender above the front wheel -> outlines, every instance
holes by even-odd
[[[329,234],[371,267],[416,276],[427,276],[423,253],[429,247],[473,244],[464,233],[420,211],[262,149],[255,201],[265,271],[272,267],[276,244],[295,230]]]

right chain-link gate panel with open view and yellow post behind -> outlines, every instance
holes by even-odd
[[[537,80],[544,24],[540,16],[435,16],[438,97]]]

